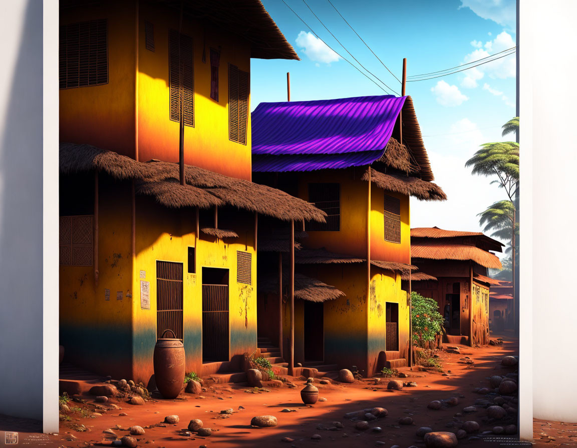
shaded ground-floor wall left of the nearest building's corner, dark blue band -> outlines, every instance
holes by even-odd
[[[99,183],[99,282],[93,266],[60,266],[60,344],[66,361],[119,378],[132,371],[132,192],[106,176]]]

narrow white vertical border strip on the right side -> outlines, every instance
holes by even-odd
[[[519,6],[519,436],[533,440],[533,5]]]

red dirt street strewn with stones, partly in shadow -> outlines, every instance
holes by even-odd
[[[456,431],[456,428],[447,428],[445,424],[450,422],[456,413],[462,412],[463,408],[471,406],[477,398],[482,398],[474,393],[474,388],[488,385],[487,378],[491,375],[505,375],[514,371],[511,367],[503,367],[500,360],[503,356],[518,354],[518,341],[510,334],[503,335],[503,346],[486,346],[482,348],[461,347],[460,354],[449,354],[445,351],[438,352],[443,369],[450,372],[450,376],[443,376],[437,371],[418,371],[409,367],[399,369],[409,375],[409,378],[401,381],[414,381],[417,387],[404,388],[400,391],[387,391],[388,379],[381,379],[380,384],[374,385],[372,379],[364,379],[354,384],[331,384],[320,385],[319,397],[327,401],[319,401],[313,407],[302,404],[299,391],[305,384],[301,378],[294,378],[296,389],[270,388],[270,392],[246,393],[246,387],[235,385],[216,384],[203,392],[204,398],[192,394],[181,394],[177,400],[147,401],[145,405],[130,405],[125,401],[115,400],[121,410],[111,409],[103,412],[102,416],[91,418],[83,417],[80,412],[70,415],[72,420],[61,422],[58,435],[44,436],[20,433],[20,443],[28,443],[29,446],[47,447],[84,447],[84,446],[110,446],[111,440],[106,439],[103,430],[112,428],[121,437],[128,435],[130,426],[149,426],[161,423],[167,415],[178,415],[180,422],[176,425],[166,424],[166,427],[153,427],[145,429],[143,436],[138,436],[138,446],[150,448],[177,448],[177,447],[200,447],[231,448],[231,447],[308,447],[308,446],[331,446],[331,447],[364,447],[377,446],[377,441],[385,442],[385,448],[400,445],[401,448],[409,446],[424,447],[422,438],[415,435],[415,431],[421,426],[429,426],[434,431]],[[464,356],[474,360],[473,365],[459,363]],[[399,379],[399,378],[396,378]],[[462,395],[462,397],[459,397]],[[181,398],[182,397],[182,398]],[[459,404],[452,408],[441,408],[438,411],[428,409],[426,406],[432,400],[443,400],[450,397],[459,397]],[[93,408],[93,397],[87,398],[88,405],[70,402],[70,407]],[[243,409],[239,409],[239,407]],[[355,430],[355,422],[344,419],[347,412],[358,411],[364,408],[384,407],[388,409],[388,416],[370,422],[371,427],[379,426],[383,432]],[[223,409],[233,408],[234,413],[230,417],[218,418]],[[297,409],[296,412],[280,412],[284,408]],[[101,411],[102,412],[102,411]],[[119,416],[125,412],[128,415]],[[250,420],[257,415],[274,415],[278,418],[278,426],[273,428],[253,428]],[[414,423],[409,426],[398,424],[402,417],[413,417]],[[478,411],[467,416],[460,417],[462,421],[477,420],[481,424],[479,432],[491,430],[495,424],[482,422],[485,410],[481,407]],[[181,436],[180,432],[186,431],[191,419],[201,419],[205,427],[216,430],[207,438],[198,436]],[[339,421],[344,424],[340,431],[328,431],[317,429],[317,425],[331,426],[331,422]],[[73,424],[84,424],[89,429],[87,432],[77,432]],[[536,423],[537,424],[537,423]],[[117,429],[117,425],[120,429]],[[572,428],[567,426],[565,428]],[[577,428],[577,427],[575,427]],[[5,428],[1,428],[4,430]],[[9,430],[6,428],[6,430]],[[539,427],[540,431],[540,427]],[[74,435],[76,441],[66,441],[70,435]],[[319,434],[322,439],[313,441],[310,437]],[[554,434],[552,434],[554,436]],[[292,443],[283,443],[285,436],[294,439]],[[30,439],[36,437],[36,439]],[[529,445],[529,442],[518,442],[511,439],[489,441],[488,439],[459,441],[459,446],[520,446]],[[541,438],[537,437],[537,441]],[[550,440],[550,439],[549,439]],[[3,442],[3,441],[2,441]],[[545,443],[543,446],[558,446],[555,441]],[[539,442],[541,443],[541,442]],[[571,442],[568,442],[571,443]],[[538,446],[541,446],[538,444]]]

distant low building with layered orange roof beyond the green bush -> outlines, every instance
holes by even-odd
[[[487,273],[490,268],[501,268],[493,252],[503,252],[503,246],[481,232],[411,229],[413,263],[436,278],[413,281],[413,291],[439,304],[445,318],[445,342],[489,343],[489,288],[499,282]]]

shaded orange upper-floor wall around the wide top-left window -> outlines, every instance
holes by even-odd
[[[59,90],[60,141],[87,143],[134,158],[136,2],[63,8],[60,25],[107,19],[108,83]]]

